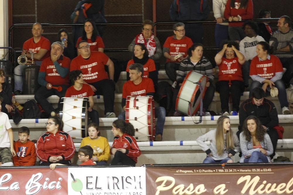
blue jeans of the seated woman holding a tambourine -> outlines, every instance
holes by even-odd
[[[277,80],[274,83],[278,89],[278,98],[280,101],[281,108],[283,108],[284,106],[288,107],[287,93],[286,93],[284,82],[282,80]],[[249,97],[251,97],[251,92],[253,91],[255,87],[262,87],[262,86],[263,86],[263,83],[260,83],[258,81],[253,81],[250,86]]]

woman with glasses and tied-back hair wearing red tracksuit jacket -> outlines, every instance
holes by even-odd
[[[70,135],[62,131],[62,120],[52,116],[45,124],[47,132],[41,135],[36,148],[40,165],[71,165],[70,159],[74,156],[75,147]]]

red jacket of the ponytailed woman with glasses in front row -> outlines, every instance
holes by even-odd
[[[74,156],[75,147],[68,133],[58,131],[54,135],[46,132],[39,138],[36,151],[41,161],[48,162],[51,156],[62,156],[63,160],[69,161]]]

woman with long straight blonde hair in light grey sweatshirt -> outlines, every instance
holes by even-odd
[[[217,129],[198,137],[196,141],[207,153],[203,163],[233,163],[231,157],[239,152],[239,140],[231,132],[228,116],[221,116],[217,121]],[[210,145],[205,144],[205,141],[210,141]]]

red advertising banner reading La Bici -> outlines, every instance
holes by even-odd
[[[0,169],[0,194],[67,194],[67,169]]]

